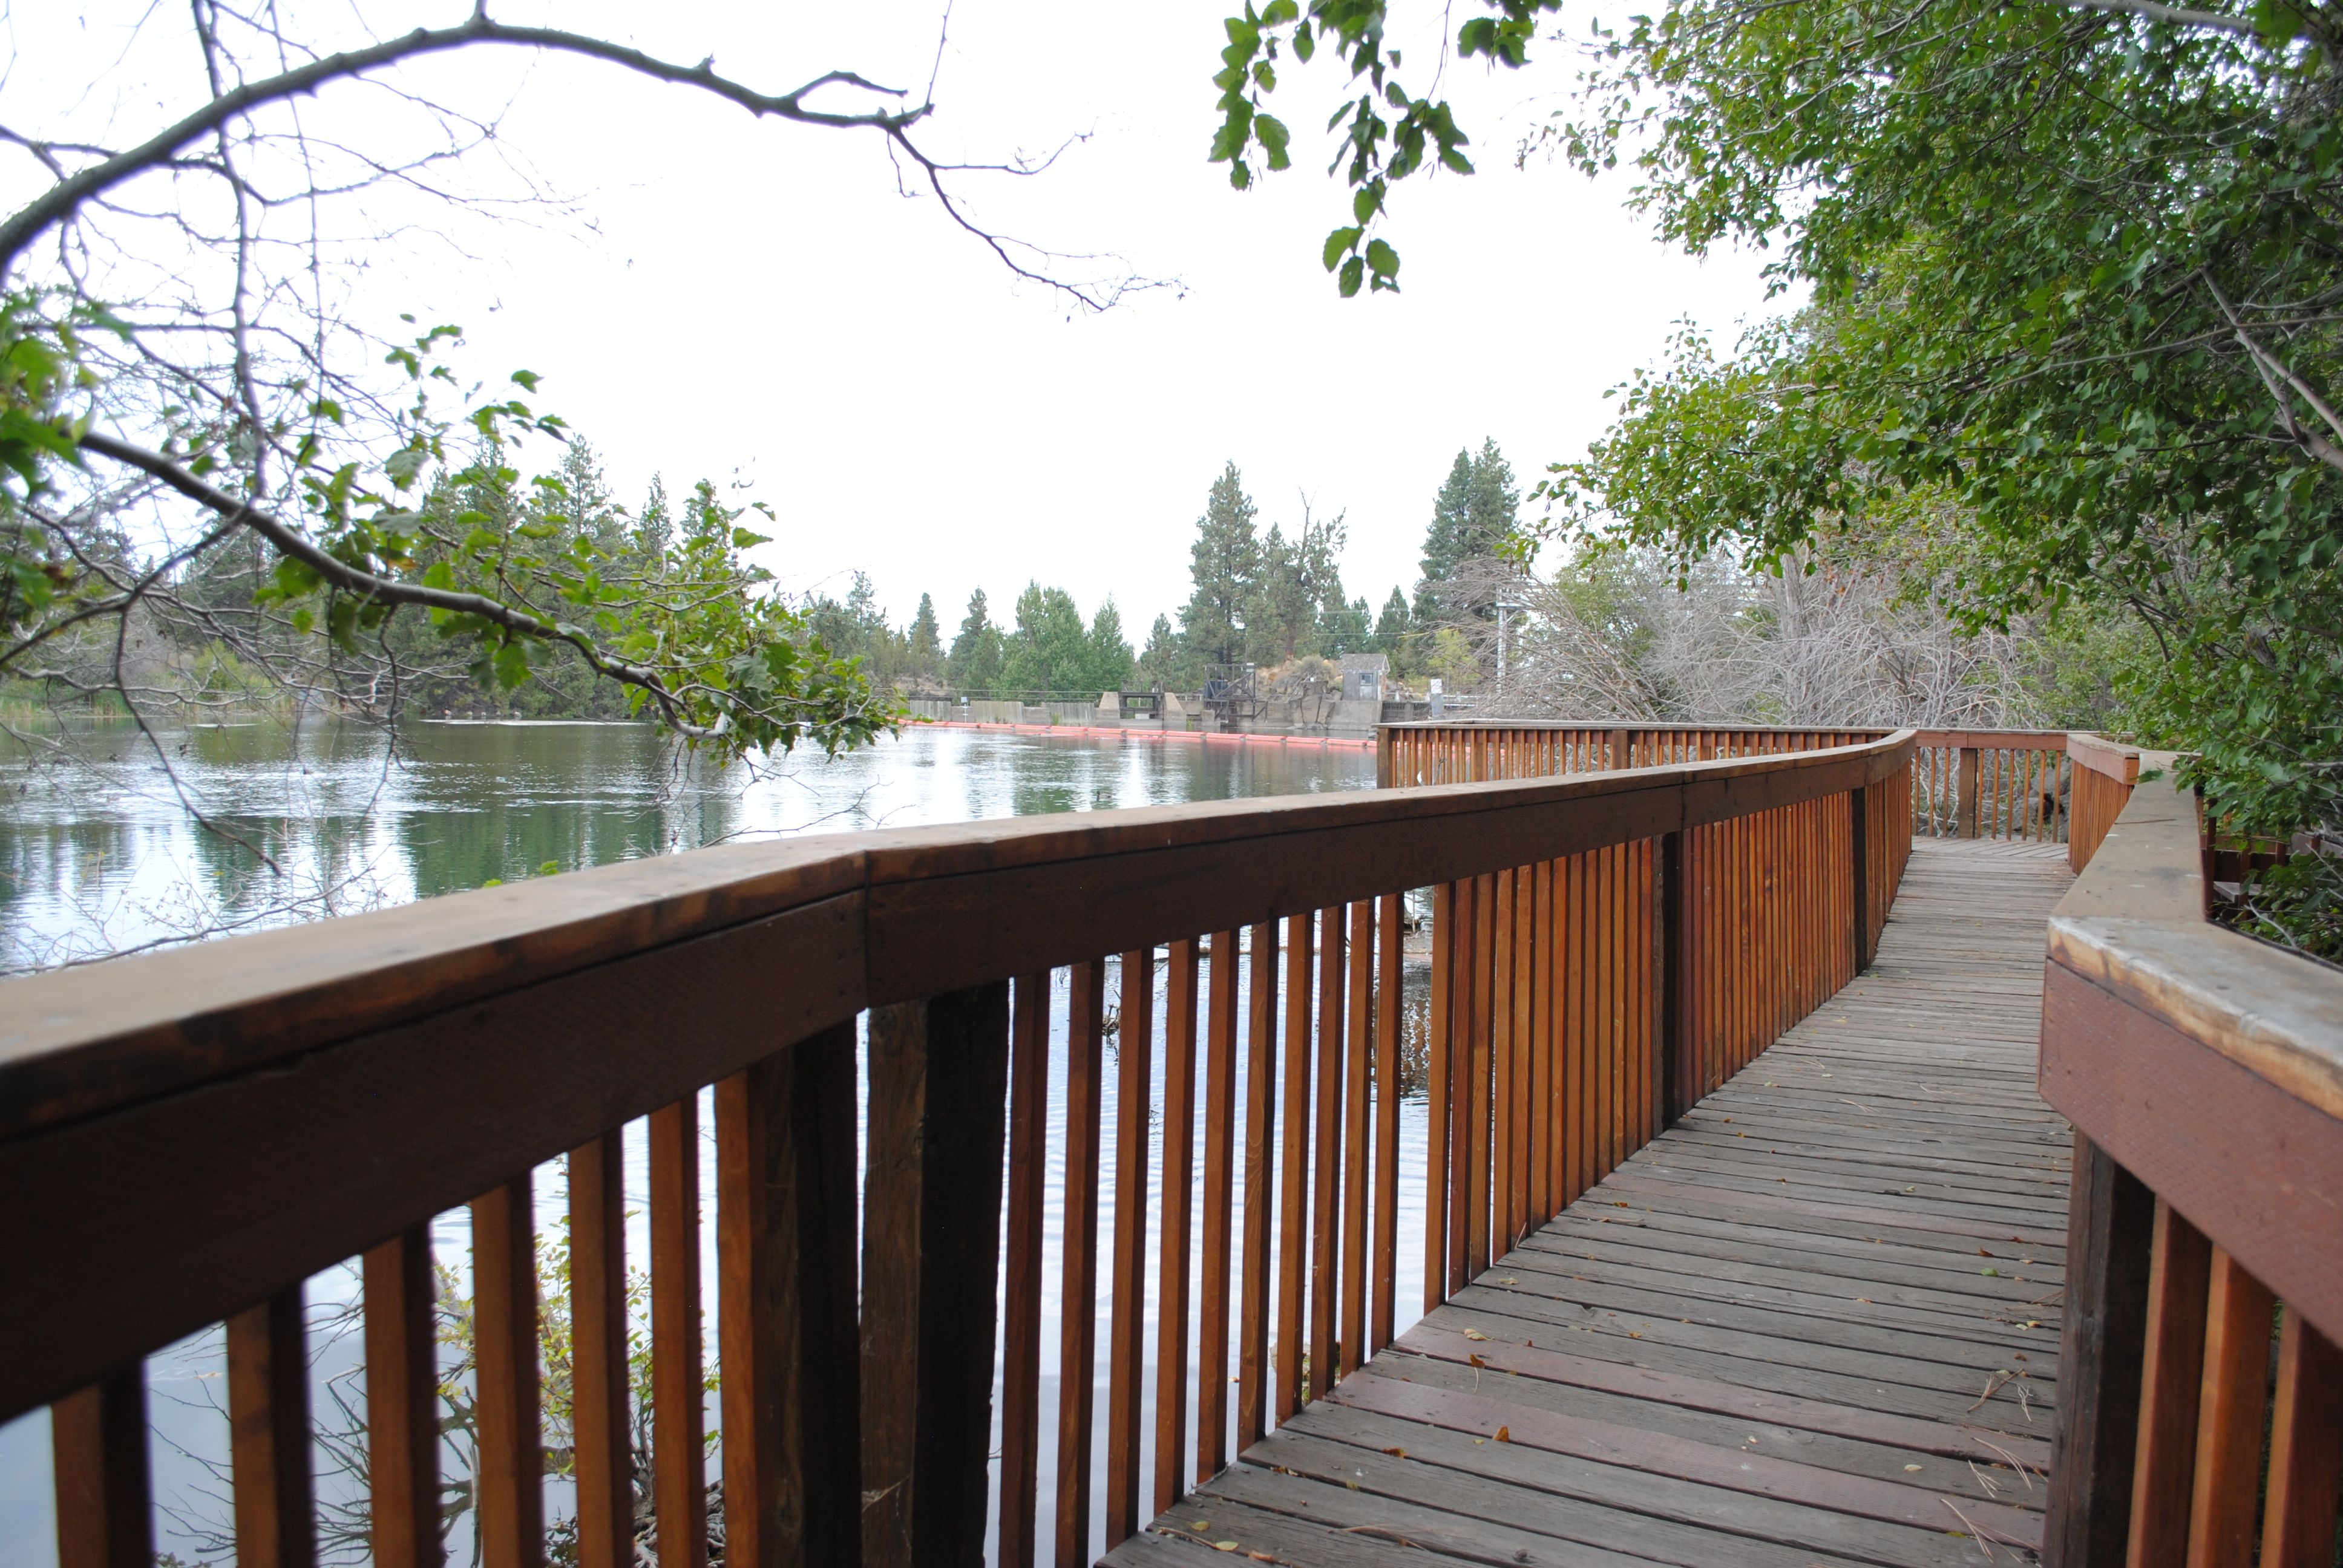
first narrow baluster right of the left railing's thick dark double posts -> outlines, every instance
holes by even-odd
[[[1000,1259],[1000,1561],[1033,1568],[1040,1486],[1040,1266],[1050,1177],[1050,975],[1010,987],[1010,1174]]]

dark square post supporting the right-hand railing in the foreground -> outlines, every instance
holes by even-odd
[[[2071,1193],[2043,1566],[2118,1568],[2132,1519],[2156,1195],[2081,1132]]]

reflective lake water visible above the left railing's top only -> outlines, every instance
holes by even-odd
[[[169,757],[169,769],[155,755]],[[0,736],[0,966],[792,832],[1373,785],[1357,748],[914,727],[708,769],[640,724],[129,724]],[[201,818],[201,823],[197,820]]]

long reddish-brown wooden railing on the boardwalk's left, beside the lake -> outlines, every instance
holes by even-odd
[[[52,1404],[66,1568],[152,1563],[141,1357],[220,1320],[239,1561],[314,1559],[305,1280],[351,1256],[373,1561],[436,1563],[429,1226],[457,1205],[473,1530],[492,1568],[541,1561],[532,1172],[555,1158],[576,1561],[633,1561],[630,1148],[644,1491],[658,1561],[698,1568],[703,1085],[729,1568],[963,1561],[989,1507],[1000,1561],[1087,1561],[1420,1305],[1396,1256],[1418,909],[1422,1303],[1863,968],[1912,734],[1706,762],[1699,734],[1642,738],[1659,766],[712,848],[0,987],[0,1418]]]

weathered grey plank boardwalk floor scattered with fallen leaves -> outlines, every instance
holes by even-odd
[[[1108,1561],[2031,1561],[2067,884],[2059,846],[1917,844],[1870,973]]]

